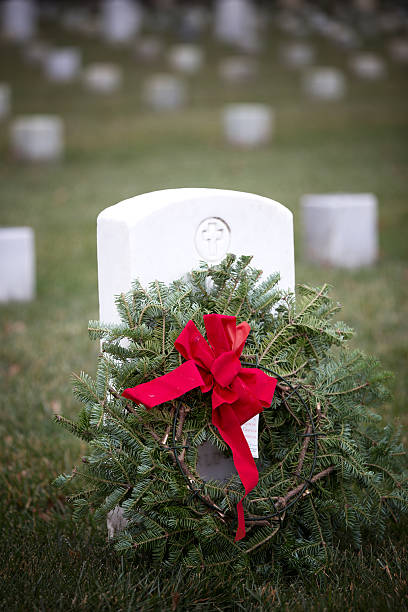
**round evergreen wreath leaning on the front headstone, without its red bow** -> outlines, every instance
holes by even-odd
[[[89,454],[55,484],[77,483],[69,498],[77,519],[123,508],[127,526],[115,538],[122,553],[194,572],[316,572],[339,537],[359,546],[368,530],[381,536],[408,510],[405,451],[374,412],[389,395],[389,374],[348,348],[353,332],[335,319],[339,305],[326,285],[300,286],[295,300],[277,288],[278,274],[261,282],[250,262],[228,255],[169,286],[135,281],[117,297],[120,325],[89,324],[90,337],[102,340],[96,378],[75,376],[78,420],[57,417],[89,442]],[[278,380],[260,415],[259,483],[244,502],[239,542],[241,481],[205,482],[197,469],[205,441],[230,454],[211,424],[209,394],[192,390],[151,410],[121,395],[177,368],[176,338],[190,320],[204,334],[209,313],[247,321],[241,364]]]

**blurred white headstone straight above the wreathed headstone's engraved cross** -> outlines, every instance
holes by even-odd
[[[237,147],[257,147],[272,136],[274,112],[265,104],[228,104],[222,122],[227,142]]]

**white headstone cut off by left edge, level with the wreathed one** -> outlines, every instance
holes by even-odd
[[[30,227],[0,228],[0,302],[25,302],[35,294],[34,232]]]

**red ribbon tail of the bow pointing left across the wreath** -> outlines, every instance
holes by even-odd
[[[203,384],[204,381],[195,362],[190,359],[164,376],[125,389],[122,395],[137,404],[144,404],[147,408],[153,408],[176,399],[187,391]]]

